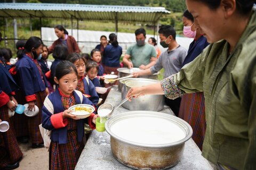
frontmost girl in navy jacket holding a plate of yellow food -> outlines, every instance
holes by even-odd
[[[83,96],[82,92],[75,90],[77,75],[73,63],[61,61],[56,67],[54,77],[58,87],[44,101],[42,126],[52,131],[49,148],[50,169],[75,169],[78,158],[84,149],[82,140],[84,123],[95,129],[95,120],[98,115],[92,113],[85,119],[79,119],[68,110],[70,106],[76,104],[93,105],[89,99]]]

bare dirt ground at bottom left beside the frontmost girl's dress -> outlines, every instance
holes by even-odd
[[[20,170],[47,170],[49,169],[49,152],[46,148],[30,148],[30,143],[19,144],[23,153]]]

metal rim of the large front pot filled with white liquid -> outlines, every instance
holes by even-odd
[[[116,134],[111,132],[111,125],[119,120],[123,120],[125,118],[132,118],[132,117],[138,117],[138,116],[148,116],[148,117],[157,117],[157,118],[167,118],[169,121],[175,123],[178,125],[185,133],[186,137],[172,143],[165,143],[165,144],[145,144],[145,143],[139,143],[139,142],[133,142],[126,139],[123,139],[121,137],[118,137]],[[105,128],[108,134],[115,138],[116,140],[122,141],[124,143],[127,143],[129,145],[138,146],[138,147],[147,147],[147,148],[168,148],[173,147],[177,145],[181,145],[182,143],[185,143],[187,140],[189,140],[193,134],[193,130],[191,126],[184,120],[182,120],[179,117],[176,117],[174,115],[170,115],[167,113],[161,113],[161,112],[153,112],[153,111],[130,111],[130,112],[124,112],[118,115],[114,115],[110,117],[106,123]]]

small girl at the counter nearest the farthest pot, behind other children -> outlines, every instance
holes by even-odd
[[[105,78],[103,77],[103,73],[104,73],[104,69],[103,66],[101,65],[101,54],[100,54],[100,50],[95,48],[92,50],[91,52],[91,58],[92,61],[96,62],[99,65],[99,70],[98,70],[98,79],[100,80],[100,82],[103,84],[103,81],[105,80]]]

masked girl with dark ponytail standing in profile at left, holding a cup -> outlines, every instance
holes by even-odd
[[[39,108],[39,113],[34,117],[27,117],[29,137],[32,148],[44,147],[43,139],[38,125],[41,124],[42,106],[49,91],[46,88],[44,74],[37,61],[42,54],[43,42],[38,37],[30,37],[24,48],[17,52],[19,60],[16,63],[18,85],[20,86],[23,99],[19,104],[28,103],[28,109],[35,111],[35,105]]]

